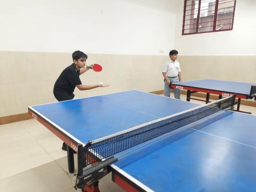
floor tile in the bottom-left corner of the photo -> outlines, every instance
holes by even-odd
[[[54,161],[0,180],[0,191],[5,192],[62,192],[72,187],[70,178]]]

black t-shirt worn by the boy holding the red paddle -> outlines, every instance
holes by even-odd
[[[62,71],[53,88],[54,96],[58,101],[74,98],[74,90],[78,84],[82,84],[79,78],[80,70],[76,70],[75,63]]]

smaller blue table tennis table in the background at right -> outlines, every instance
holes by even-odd
[[[171,87],[187,90],[187,101],[190,101],[190,99],[201,100],[191,97],[191,94],[196,92],[206,93],[206,103],[209,102],[210,94],[219,95],[219,99],[221,99],[222,96],[228,97],[236,94],[236,97],[238,98],[236,111],[240,111],[241,99],[252,99],[254,97],[256,100],[256,83],[199,79],[175,82],[171,84]]]

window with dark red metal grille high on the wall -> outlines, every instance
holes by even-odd
[[[233,29],[236,0],[185,0],[182,35]]]

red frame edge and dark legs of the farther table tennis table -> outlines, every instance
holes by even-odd
[[[183,90],[187,90],[186,101],[190,101],[190,99],[194,99],[194,100],[198,100],[198,101],[205,101],[205,103],[208,103],[208,102],[210,102],[209,101],[210,94],[219,95],[219,99],[221,99],[222,96],[229,97],[229,96],[232,96],[232,95],[236,94],[236,97],[238,98],[238,102],[236,103],[237,104],[237,110],[233,110],[233,111],[242,112],[242,113],[248,113],[248,114],[251,114],[251,113],[250,112],[240,111],[241,99],[249,99],[250,98],[250,94],[252,93],[252,91],[255,92],[255,89],[256,89],[256,86],[251,86],[250,94],[248,95],[248,94],[233,93],[233,92],[228,92],[228,91],[219,91],[219,90],[203,89],[203,88],[190,87],[190,86],[182,86],[180,84],[175,84],[175,83],[170,83],[170,87],[171,88],[180,89],[180,90],[182,90],[182,89]],[[202,100],[202,99],[197,99],[197,98],[191,97],[192,93],[197,93],[197,92],[206,93],[206,100]],[[254,100],[256,100],[256,96],[254,96]]]

